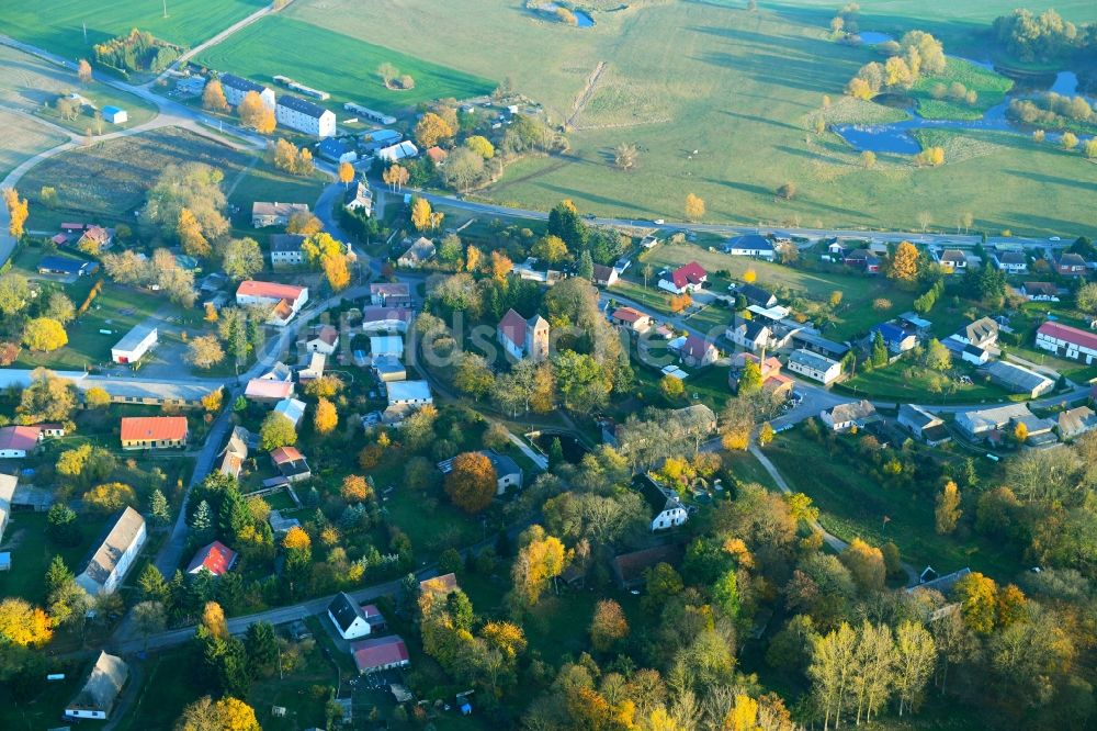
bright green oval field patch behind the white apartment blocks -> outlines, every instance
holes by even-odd
[[[372,15],[372,8],[370,12]],[[292,14],[291,8],[289,15]],[[463,74],[449,65],[431,64],[418,55],[394,50],[388,44],[374,45],[344,34],[347,31],[341,25],[320,27],[289,15],[280,13],[263,18],[205,50],[197,61],[223,72],[265,83],[273,83],[274,76],[289,76],[329,92],[331,99],[327,106],[337,110],[340,116],[344,102],[393,112],[444,97],[478,97],[489,93],[497,86],[488,78]],[[416,46],[405,48],[410,52]],[[338,63],[330,59],[338,59]],[[377,67],[385,63],[393,64],[402,75],[410,75],[415,79],[415,88],[407,91],[385,88],[376,74]],[[354,71],[349,74],[348,69]],[[348,113],[348,116],[353,115]]]

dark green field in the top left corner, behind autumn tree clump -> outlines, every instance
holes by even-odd
[[[66,58],[92,58],[92,46],[132,27],[195,46],[256,12],[263,0],[0,0],[0,32]],[[87,27],[87,40],[83,29]]]

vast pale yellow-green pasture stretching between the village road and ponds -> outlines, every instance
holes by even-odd
[[[903,0],[864,11],[861,26],[952,29],[955,37],[1013,4],[954,8],[929,20]],[[1084,2],[1060,4],[1068,18],[1086,15]],[[994,233],[1077,235],[1092,224],[1084,212],[1097,206],[1097,189],[1081,182],[1092,179],[1090,164],[1024,135],[957,135],[965,146],[969,137],[977,144],[977,155],[947,154],[937,169],[880,155],[864,170],[837,135],[805,133],[823,95],[838,100],[857,68],[877,56],[829,40],[833,2],[762,5],[757,13],[738,1],[644,5],[595,12],[596,25],[585,29],[546,23],[520,3],[485,0],[408,0],[369,11],[350,0],[299,0],[286,12],[367,42],[415,48],[423,59],[476,76],[507,69],[554,124],[567,122],[568,153],[509,166],[480,191],[497,202],[547,209],[572,198],[601,215],[680,220],[685,195],[693,192],[708,203],[709,220],[750,224],[915,228],[924,211],[936,229],[954,227],[965,211],[976,214],[977,228]],[[428,12],[433,22],[423,24]],[[946,44],[963,50],[951,48],[948,36]],[[993,144],[984,148],[986,138]],[[633,171],[612,164],[622,143],[638,149]],[[774,195],[784,182],[799,189],[792,201]],[[1078,205],[1054,204],[1061,200]]]

